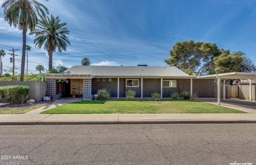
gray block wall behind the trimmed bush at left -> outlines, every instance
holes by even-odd
[[[28,97],[25,99],[29,100],[31,98],[35,99],[37,102],[43,100],[43,96],[46,95],[46,82],[41,81],[0,81],[0,86],[8,85],[27,85],[30,87]],[[1,99],[0,99],[1,100]]]

